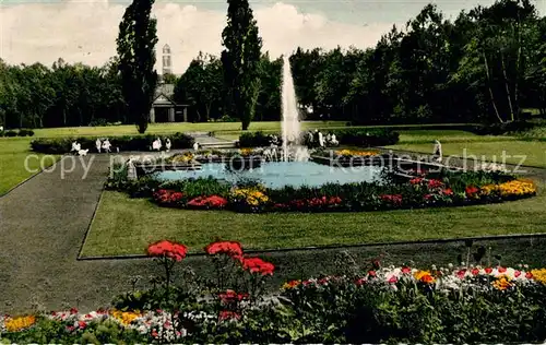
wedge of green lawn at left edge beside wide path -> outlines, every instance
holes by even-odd
[[[31,138],[0,138],[0,195],[59,158],[31,152]]]

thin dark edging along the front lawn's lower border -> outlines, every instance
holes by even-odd
[[[542,238],[546,237],[546,233],[534,234],[510,234],[510,235],[490,235],[478,237],[460,237],[460,238],[439,238],[426,239],[420,241],[393,241],[393,242],[373,242],[373,243],[357,243],[357,245],[333,245],[333,246],[319,246],[319,247],[290,247],[280,249],[263,249],[263,250],[245,250],[249,254],[260,253],[282,253],[298,250],[324,250],[324,249],[351,249],[351,248],[369,248],[369,247],[389,247],[389,246],[404,246],[404,245],[434,245],[434,243],[450,243],[450,242],[464,242],[464,241],[484,241],[484,240],[502,240],[502,239],[524,239],[524,238]],[[206,253],[188,253],[188,257],[205,257]],[[79,261],[96,261],[96,260],[132,260],[132,259],[146,259],[144,254],[128,254],[128,255],[105,255],[105,257],[79,257]]]

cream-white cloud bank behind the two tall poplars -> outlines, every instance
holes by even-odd
[[[72,0],[61,3],[23,3],[0,8],[0,57],[9,63],[51,66],[67,62],[102,66],[116,55],[118,25],[126,4],[105,0]],[[199,51],[218,55],[226,13],[194,5],[157,3],[157,68],[161,47],[168,44],[173,69],[182,73]],[[263,50],[272,57],[296,47],[344,48],[373,46],[392,23],[353,25],[330,21],[322,14],[301,13],[282,2],[254,10]]]

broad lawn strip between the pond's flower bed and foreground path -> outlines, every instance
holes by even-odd
[[[542,192],[527,200],[467,207],[237,214],[164,209],[149,200],[108,191],[103,194],[82,255],[140,254],[147,243],[165,238],[200,251],[218,238],[261,250],[546,233],[545,202]]]

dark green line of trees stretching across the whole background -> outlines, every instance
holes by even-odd
[[[126,12],[128,21],[139,12],[131,13]],[[237,17],[240,13],[246,14]],[[147,121],[156,75],[138,68],[152,71],[155,56],[141,52],[145,61],[134,62],[139,53],[127,51],[138,51],[131,45],[141,51],[149,51],[146,43],[155,45],[155,22],[149,20],[141,35],[132,35],[136,28],[120,24],[118,57],[104,67],[62,59],[51,68],[0,61],[0,123],[39,128],[134,123],[135,117]],[[252,49],[241,49],[234,39],[241,35]],[[130,41],[134,37],[141,41]],[[176,102],[189,105],[191,121],[240,120],[247,128],[251,120],[278,120],[283,62],[261,52],[246,0],[228,1],[223,45],[219,57],[200,53],[181,76],[168,76]],[[297,48],[289,61],[306,119],[511,122],[524,119],[526,108],[546,115],[546,16],[529,0],[500,0],[462,11],[454,20],[428,4],[372,48]],[[147,88],[128,90],[131,85]],[[131,92],[141,93],[133,103]]]

